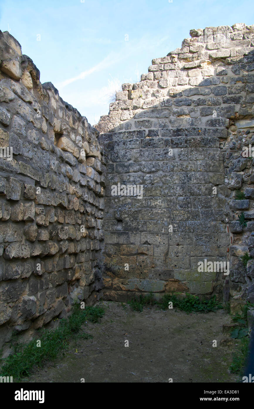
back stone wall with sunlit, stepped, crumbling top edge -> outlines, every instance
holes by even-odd
[[[216,293],[233,309],[254,301],[253,262],[239,258],[254,256],[254,163],[242,156],[254,143],[254,25],[190,35],[123,84],[96,126],[108,155],[104,294]],[[112,196],[118,183],[143,185],[143,198]],[[205,258],[230,274],[199,272]]]

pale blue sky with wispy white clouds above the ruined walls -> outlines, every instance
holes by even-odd
[[[254,24],[253,0],[0,0],[0,29],[92,125],[190,29],[236,22]]]

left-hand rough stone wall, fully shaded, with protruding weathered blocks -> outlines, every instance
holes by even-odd
[[[99,133],[0,31],[0,348],[102,289]],[[5,148],[5,150],[4,150]],[[12,150],[12,154],[11,154]],[[24,331],[26,331],[24,333]]]

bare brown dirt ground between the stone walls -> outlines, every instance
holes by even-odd
[[[222,325],[230,323],[224,310],[187,314],[145,306],[135,312],[127,304],[99,304],[105,308],[101,322],[83,327],[93,338],[72,340],[64,357],[22,382],[237,381],[228,369],[234,344],[219,345]]]

